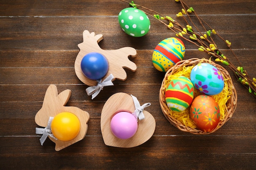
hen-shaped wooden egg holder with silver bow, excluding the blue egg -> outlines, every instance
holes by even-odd
[[[90,33],[89,31],[83,31],[83,42],[78,44],[79,53],[75,61],[75,72],[76,76],[86,85],[92,86],[94,88],[87,89],[86,92],[88,95],[92,95],[95,91],[99,91],[104,86],[104,80],[108,80],[108,83],[105,83],[106,86],[113,85],[112,81],[115,79],[126,80],[127,75],[124,68],[128,68],[131,71],[136,71],[137,66],[135,63],[131,62],[128,57],[135,57],[137,52],[132,47],[124,47],[116,50],[103,50],[99,46],[99,42],[103,40],[103,35],[95,35],[94,32]],[[100,53],[108,61],[108,71],[104,77],[100,80],[90,79],[85,76],[81,69],[81,61],[85,55],[88,53]],[[102,81],[101,81],[102,80]],[[106,81],[105,81],[106,82]],[[96,95],[92,96],[94,98]]]

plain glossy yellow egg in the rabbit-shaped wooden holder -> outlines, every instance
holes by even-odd
[[[62,112],[53,118],[51,129],[54,137],[61,141],[69,141],[79,134],[80,121],[73,113]]]

